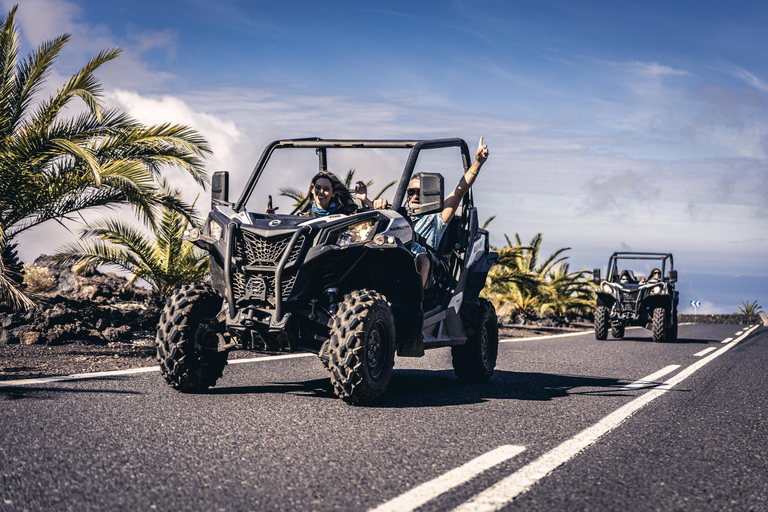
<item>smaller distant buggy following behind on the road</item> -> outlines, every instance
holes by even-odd
[[[639,264],[660,270],[658,278],[635,275]],[[636,269],[636,267],[635,267]],[[600,269],[593,272],[598,285],[595,308],[595,338],[604,340],[608,328],[614,338],[623,338],[624,329],[639,325],[650,329],[653,341],[677,339],[677,270],[672,254],[652,252],[615,252],[608,260],[608,275],[601,280]]]

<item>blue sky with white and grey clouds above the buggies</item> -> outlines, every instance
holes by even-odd
[[[686,272],[768,277],[768,3],[22,0],[17,19],[25,52],[73,35],[51,88],[124,48],[105,102],[194,126],[235,187],[279,138],[484,136],[498,245],[541,232],[574,269],[673,252],[702,312],[736,304],[687,297]],[[68,236],[40,229],[22,257]]]

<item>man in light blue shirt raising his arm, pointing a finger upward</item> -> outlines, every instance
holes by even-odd
[[[477,179],[477,174],[480,172],[480,168],[487,159],[488,145],[483,144],[483,138],[480,137],[480,143],[475,152],[475,161],[472,162],[472,165],[461,177],[456,188],[443,201],[443,211],[428,215],[415,215],[411,218],[411,221],[414,223],[414,231],[421,235],[427,245],[433,249],[437,249],[440,246],[440,240],[448,227],[448,223],[453,219],[456,209],[461,204],[461,200],[472,187],[472,184]],[[411,207],[418,206],[420,203],[420,185],[419,174],[413,175],[408,183],[408,205]],[[387,200],[377,199],[373,202],[373,207],[378,210],[384,209],[387,207]],[[415,255],[416,270],[421,274],[422,287],[427,288],[428,285],[434,284],[436,281],[434,274],[447,274],[446,262],[436,257],[435,254],[420,244],[415,243],[411,251]],[[435,271],[434,269],[436,268],[439,270]]]

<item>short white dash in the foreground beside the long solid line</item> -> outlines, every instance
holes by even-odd
[[[369,512],[411,512],[454,487],[468,482],[483,471],[522,453],[524,446],[500,446],[429,482],[414,487],[397,498],[382,503]]]

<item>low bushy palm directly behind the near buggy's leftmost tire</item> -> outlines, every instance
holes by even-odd
[[[199,283],[208,275],[208,253],[181,238],[189,226],[188,217],[193,217],[191,207],[185,214],[164,207],[153,238],[120,219],[95,221],[82,230],[82,241],[65,246],[56,257],[73,265],[76,274],[101,265],[126,270],[131,273],[130,283],[143,279],[157,298],[164,299],[176,288]]]

